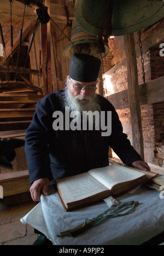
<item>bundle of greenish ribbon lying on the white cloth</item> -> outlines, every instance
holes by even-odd
[[[93,228],[93,226],[97,226],[101,224],[104,220],[119,216],[124,216],[126,214],[130,214],[133,212],[134,207],[138,205],[138,202],[131,201],[131,202],[125,202],[121,203],[121,205],[115,206],[113,208],[109,208],[107,211],[104,211],[103,213],[99,214],[97,217],[92,219],[85,219],[85,222],[79,226],[77,226],[74,229],[70,229],[64,232],[61,232],[60,235],[57,235],[57,237],[75,237],[83,232],[85,232],[88,229]]]

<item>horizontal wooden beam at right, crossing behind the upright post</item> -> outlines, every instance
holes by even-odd
[[[109,95],[108,100],[115,109],[128,108],[128,90]],[[153,104],[164,101],[164,77],[160,77],[139,85],[139,103]]]

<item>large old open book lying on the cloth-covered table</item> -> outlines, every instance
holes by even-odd
[[[66,211],[101,202],[106,197],[125,194],[157,173],[109,165],[75,176],[56,179],[58,195]]]

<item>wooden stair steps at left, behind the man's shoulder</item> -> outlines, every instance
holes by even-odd
[[[32,121],[37,101],[29,100],[32,90],[3,90],[0,92],[0,131],[27,129]]]

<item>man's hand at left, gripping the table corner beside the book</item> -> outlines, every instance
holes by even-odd
[[[37,179],[34,181],[30,193],[33,201],[40,201],[40,195],[49,195],[49,178]]]

